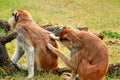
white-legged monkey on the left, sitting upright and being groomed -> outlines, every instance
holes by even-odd
[[[28,76],[34,76],[34,70],[52,71],[58,68],[58,56],[51,52],[47,43],[58,48],[55,40],[49,38],[51,32],[39,27],[27,10],[15,10],[8,20],[12,30],[17,33],[16,50],[12,57],[13,63],[26,53]]]

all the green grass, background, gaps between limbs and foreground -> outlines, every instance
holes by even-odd
[[[28,10],[40,25],[88,27],[90,31],[95,33],[102,31],[120,33],[120,0],[0,0],[0,19],[8,20],[11,12],[16,9]],[[4,32],[0,30],[0,34],[4,34]],[[109,45],[108,41],[118,41],[118,44]],[[15,49],[14,42],[7,44],[10,57]],[[108,48],[110,63],[119,63],[120,40],[105,37],[103,42]],[[68,53],[64,47],[61,47],[61,50]],[[69,54],[66,55],[69,56]],[[22,65],[24,62],[25,59],[22,58],[19,64]],[[62,60],[60,60],[60,66],[66,66]],[[24,72],[15,74],[11,80],[22,80],[27,75],[24,74]],[[45,74],[44,77],[41,74],[35,74],[35,77],[40,80],[59,79],[53,74]],[[3,77],[0,76],[0,78]],[[118,79],[106,76],[104,80]]]

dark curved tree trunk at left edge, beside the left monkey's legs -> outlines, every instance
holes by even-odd
[[[10,60],[5,44],[13,40],[16,34],[8,36],[0,36],[0,67],[2,67],[8,74],[19,71],[19,68]]]

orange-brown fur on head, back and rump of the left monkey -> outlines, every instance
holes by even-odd
[[[13,12],[15,14],[18,14],[18,20],[12,28],[23,34],[26,43],[34,46],[35,68],[48,71],[58,68],[58,57],[46,47],[47,43],[51,43],[58,48],[57,43],[48,37],[51,32],[40,28],[26,10],[17,10]],[[39,62],[36,62],[37,59]]]

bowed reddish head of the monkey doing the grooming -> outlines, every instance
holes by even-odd
[[[77,29],[65,28],[59,34],[60,41],[68,49],[78,48],[81,46],[81,39],[79,38],[78,33],[79,30]]]

